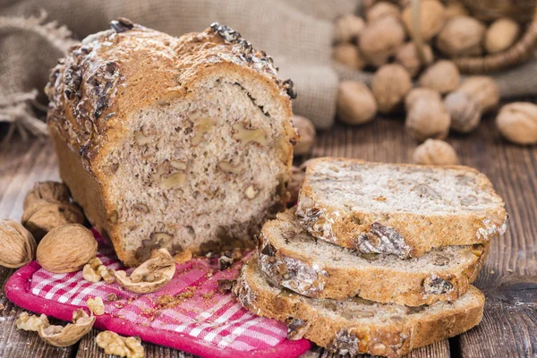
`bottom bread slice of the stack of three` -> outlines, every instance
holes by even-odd
[[[287,323],[290,339],[305,337],[339,354],[398,357],[413,348],[454,337],[482,320],[485,298],[475,287],[452,303],[406,307],[362,299],[309,298],[271,286],[256,259],[234,286],[240,303],[263,317]]]

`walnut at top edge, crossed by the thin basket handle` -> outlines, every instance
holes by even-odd
[[[412,5],[408,5],[401,15],[406,31],[413,33],[415,21],[413,19]],[[437,0],[422,1],[420,3],[420,32],[424,41],[436,36],[444,27],[446,13],[444,6]]]

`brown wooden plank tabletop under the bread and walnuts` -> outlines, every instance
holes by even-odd
[[[475,283],[487,297],[482,323],[469,332],[413,351],[411,357],[537,357],[537,148],[502,141],[491,118],[467,136],[451,136],[462,164],[489,175],[506,201],[507,234],[493,240]],[[410,162],[415,143],[401,120],[379,118],[359,128],[336,126],[320,132],[310,157],[338,156],[384,162]],[[22,200],[36,181],[57,179],[55,155],[47,142],[13,141],[0,149],[0,217],[20,219]],[[0,283],[13,269],[0,268]],[[4,308],[1,308],[4,307]],[[14,325],[21,309],[0,292],[0,357],[104,357],[97,332],[68,348],[44,344]],[[191,357],[174,349],[144,344],[148,357]],[[331,356],[315,348],[308,357]]]

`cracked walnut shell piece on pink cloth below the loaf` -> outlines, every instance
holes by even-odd
[[[175,275],[175,259],[166,249],[151,253],[151,258],[142,263],[127,277],[125,271],[115,271],[117,283],[135,294],[150,294],[166,286]]]

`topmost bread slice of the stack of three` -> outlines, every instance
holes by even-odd
[[[402,258],[488,243],[507,227],[503,200],[473,168],[347,158],[311,161],[296,215],[317,238]]]

